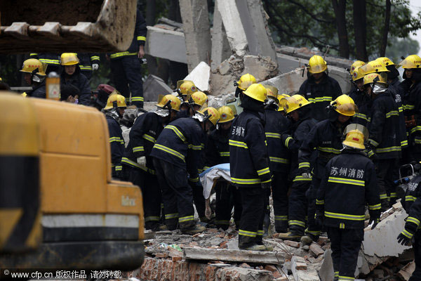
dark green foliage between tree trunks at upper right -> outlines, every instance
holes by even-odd
[[[265,10],[270,16],[269,25],[277,44],[307,46],[335,55],[339,51],[338,32],[331,0],[263,0]],[[349,51],[355,56],[353,1],[346,1],[347,32]],[[385,1],[367,0],[367,52],[369,56],[380,53],[382,32],[385,26]],[[408,0],[392,0],[389,37],[407,38],[411,32],[421,28],[420,13],[413,17]],[[393,41],[388,40],[388,46]]]

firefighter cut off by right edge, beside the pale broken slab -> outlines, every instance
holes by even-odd
[[[421,175],[415,176],[409,183],[405,197],[402,199],[402,206],[408,214],[405,228],[398,236],[398,242],[410,246],[413,245],[415,255],[415,270],[409,281],[420,280],[421,277]]]

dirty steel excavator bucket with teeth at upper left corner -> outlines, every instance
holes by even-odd
[[[1,0],[0,53],[126,51],[137,0]]]

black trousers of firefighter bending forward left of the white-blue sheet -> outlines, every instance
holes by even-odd
[[[187,171],[161,159],[154,158],[156,176],[161,188],[163,212],[168,230],[194,228],[192,188]]]

